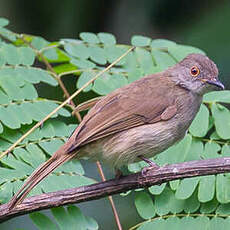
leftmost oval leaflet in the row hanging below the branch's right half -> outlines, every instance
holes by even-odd
[[[135,206],[139,215],[144,219],[155,216],[155,207],[150,195],[146,192],[135,193]]]

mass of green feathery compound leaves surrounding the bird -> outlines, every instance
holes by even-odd
[[[0,19],[0,154],[61,103],[58,99],[41,97],[37,90],[40,82],[57,88],[61,77],[71,74],[77,79],[76,89],[79,89],[130,47],[117,44],[116,38],[108,33],[81,33],[79,40],[50,43],[40,37],[16,34],[5,28],[7,24],[6,19]],[[106,95],[146,74],[174,65],[189,53],[203,53],[194,47],[144,36],[132,37],[131,44],[137,48],[86,87],[84,93]],[[46,68],[38,67],[41,64]],[[154,159],[158,164],[229,155],[230,111],[225,104],[230,103],[230,93],[209,93],[203,102],[186,137],[158,155]],[[28,175],[66,141],[76,125],[67,125],[60,117],[70,117],[72,109],[66,105],[21,142],[12,154],[1,159],[0,203],[7,202]],[[144,166],[145,163],[140,162],[129,165],[128,169],[137,172]],[[94,180],[84,176],[80,162],[72,161],[55,170],[30,195],[90,183]],[[132,229],[164,229],[166,225],[172,229],[178,226],[215,229],[213,226],[219,223],[230,225],[228,218],[222,218],[229,215],[229,188],[229,174],[223,174],[134,191],[137,212],[144,220]],[[68,229],[76,229],[76,225],[87,226],[82,229],[98,228],[94,220],[83,217],[75,206],[67,210],[55,208],[52,213],[59,229],[67,224]],[[38,229],[56,229],[44,214],[30,216]]]

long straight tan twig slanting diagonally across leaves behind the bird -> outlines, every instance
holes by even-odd
[[[85,89],[88,85],[90,85],[92,82],[94,82],[98,77],[100,77],[103,73],[108,71],[110,68],[112,68],[114,65],[116,65],[122,58],[124,58],[129,52],[131,52],[135,47],[131,47],[129,50],[127,50],[122,56],[120,56],[117,60],[115,60],[112,64],[110,64],[107,68],[103,69],[100,73],[98,73],[94,78],[92,78],[90,81],[85,83],[80,89],[78,89],[75,93],[73,93],[67,100],[65,100],[61,105],[59,105],[56,109],[54,109],[51,113],[49,113],[45,118],[43,118],[41,121],[39,121],[36,125],[34,125],[27,133],[25,133],[23,136],[21,136],[13,145],[11,145],[6,151],[4,151],[0,155],[0,159],[7,155],[9,152],[11,152],[21,141],[23,141],[29,134],[31,134],[36,128],[40,127],[41,124],[43,124],[46,120],[48,120],[50,117],[52,117],[59,109],[61,109],[63,106],[65,106],[67,103],[70,102],[74,97],[76,97],[83,89]]]

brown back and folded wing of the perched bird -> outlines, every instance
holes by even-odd
[[[171,84],[155,74],[103,97],[75,130],[67,151],[133,127],[169,120],[177,112]]]

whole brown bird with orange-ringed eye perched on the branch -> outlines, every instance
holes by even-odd
[[[202,97],[224,89],[216,65],[190,54],[178,64],[146,76],[99,100],[68,141],[36,169],[9,202],[12,209],[64,162],[88,157],[119,169],[145,160],[181,140]],[[151,163],[151,162],[150,162]]]

